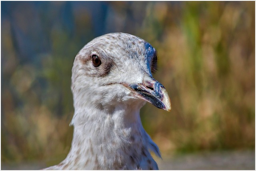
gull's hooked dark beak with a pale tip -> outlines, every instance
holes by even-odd
[[[147,74],[144,75],[142,84],[132,84],[126,87],[132,90],[134,97],[144,99],[160,109],[171,110],[171,101],[166,89]]]

